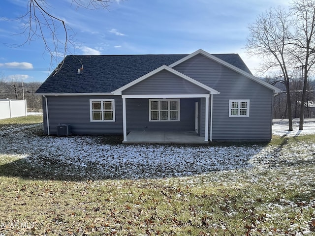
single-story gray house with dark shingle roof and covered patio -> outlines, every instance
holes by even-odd
[[[273,96],[238,54],[67,56],[36,91],[44,132],[123,143],[271,139]],[[187,140],[185,140],[187,137]]]

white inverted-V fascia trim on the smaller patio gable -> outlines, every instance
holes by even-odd
[[[190,83],[199,86],[199,87],[202,88],[202,89],[206,89],[206,90],[208,90],[211,94],[219,94],[219,93],[220,93],[220,92],[218,92],[217,90],[212,89],[212,88],[210,88],[210,87],[208,87],[208,86],[206,86],[206,85],[204,85],[204,84],[202,84],[202,83],[200,83],[200,82],[198,82],[198,81],[196,81],[196,80],[190,78],[189,76],[184,75],[183,73],[181,73],[181,72],[179,72],[179,71],[177,71],[177,70],[174,70],[174,69],[170,68],[170,67],[167,66],[167,65],[162,65],[162,66],[158,67],[157,69],[155,69],[155,70],[149,72],[148,74],[145,74],[144,76],[141,76],[140,78],[138,78],[138,79],[136,79],[136,80],[134,80],[134,81],[132,81],[132,82],[126,84],[125,86],[123,86],[123,87],[121,87],[121,88],[119,88],[119,89],[116,89],[115,91],[113,91],[113,94],[115,94],[115,95],[122,95],[122,91],[123,91],[123,90],[128,89],[128,88],[130,88],[131,86],[138,84],[139,82],[141,82],[141,81],[143,81],[143,80],[149,78],[150,76],[153,76],[153,75],[157,74],[158,72],[160,72],[160,71],[162,71],[162,70],[167,70],[168,72],[173,73],[174,75],[177,75],[177,76],[179,76],[179,77],[181,77],[181,78],[183,78],[183,79],[189,81]]]

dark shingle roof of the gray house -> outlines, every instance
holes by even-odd
[[[112,92],[162,65],[170,65],[186,56],[188,55],[66,56],[64,63],[60,64],[62,65],[60,71],[57,74],[53,72],[36,92]],[[251,73],[238,54],[213,54],[213,56]],[[82,65],[83,70],[78,74],[78,68]]]

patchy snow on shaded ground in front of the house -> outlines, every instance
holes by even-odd
[[[296,124],[294,125],[296,128]],[[315,133],[315,122],[305,124],[305,132],[287,132],[284,120],[275,121],[276,135]],[[278,168],[314,158],[314,143],[278,146],[190,146],[190,145],[110,145],[97,136],[38,136],[42,124],[0,131],[0,154],[25,158],[35,168],[50,168],[56,176],[83,178],[164,178],[207,174],[242,168]],[[293,153],[293,154],[292,154]]]

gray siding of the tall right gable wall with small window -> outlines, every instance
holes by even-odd
[[[214,141],[271,139],[271,89],[202,55],[197,55],[174,69],[220,92],[213,95]],[[229,117],[230,99],[249,99],[250,117]],[[201,125],[204,122],[203,100],[201,99]]]

